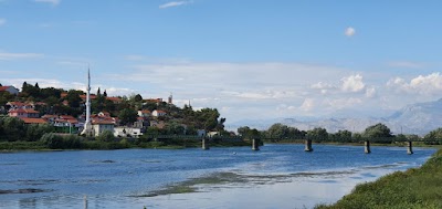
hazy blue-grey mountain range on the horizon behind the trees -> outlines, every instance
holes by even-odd
[[[360,133],[368,126],[377,123],[386,124],[393,134],[425,135],[429,132],[442,127],[442,98],[434,102],[411,104],[393,113],[388,117],[358,117],[358,118],[276,118],[269,121],[241,121],[230,126],[249,126],[257,129],[267,129],[275,123],[282,123],[298,129],[308,130],[315,127],[326,128],[328,133],[340,129]]]

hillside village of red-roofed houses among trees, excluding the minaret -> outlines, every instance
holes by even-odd
[[[0,84],[1,85],[1,84]],[[172,95],[162,98],[143,98],[141,95],[108,96],[98,88],[90,94],[91,122],[94,135],[110,132],[115,137],[140,135],[231,135],[224,130],[225,118],[218,109],[193,111],[173,105]],[[0,86],[0,116],[18,117],[25,124],[48,124],[57,133],[80,134],[86,121],[86,93],[78,90],[40,88],[23,83]]]

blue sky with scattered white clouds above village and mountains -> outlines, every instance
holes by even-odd
[[[0,83],[244,119],[386,117],[442,98],[442,1],[0,0]]]

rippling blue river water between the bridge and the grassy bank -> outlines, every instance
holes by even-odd
[[[0,208],[312,208],[359,182],[422,165],[435,149],[314,145],[0,154]],[[198,192],[146,197],[194,178]],[[29,192],[34,191],[34,192]]]

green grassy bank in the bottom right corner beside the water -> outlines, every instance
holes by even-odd
[[[358,185],[335,205],[316,208],[442,208],[442,149],[421,168],[396,171]]]

